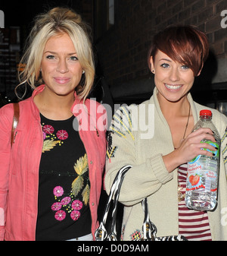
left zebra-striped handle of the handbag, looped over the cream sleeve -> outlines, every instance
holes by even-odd
[[[116,218],[117,218],[117,202],[120,194],[120,187],[123,182],[123,178],[126,175],[126,172],[132,166],[127,165],[123,166],[118,172],[113,181],[113,185],[110,188],[110,194],[107,198],[107,204],[104,208],[104,214],[102,216],[102,220],[98,229],[95,230],[95,240],[96,241],[103,241],[104,239],[108,239],[110,241],[117,241],[117,234],[116,234]],[[107,229],[105,228],[105,224],[107,221],[107,216],[110,210],[110,204],[113,199],[113,213],[112,213],[112,223],[111,223],[111,231],[110,235],[107,236]]]

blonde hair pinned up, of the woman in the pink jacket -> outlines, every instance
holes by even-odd
[[[36,89],[37,86],[43,83],[40,65],[45,44],[51,36],[60,33],[67,33],[70,36],[79,63],[85,71],[79,85],[76,87],[79,98],[85,100],[92,89],[95,77],[92,43],[89,26],[82,21],[79,14],[69,8],[53,8],[46,14],[40,14],[36,17],[35,25],[28,37],[28,47],[20,62],[26,64],[26,66],[19,74],[20,84],[18,86],[27,83],[30,84],[30,87]]]

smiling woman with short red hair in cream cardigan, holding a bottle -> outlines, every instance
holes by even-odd
[[[200,154],[212,156],[201,147],[216,150],[201,144],[205,138],[215,141],[209,128],[191,133],[204,106],[195,103],[189,91],[194,77],[201,74],[208,52],[207,36],[194,27],[168,27],[157,33],[148,55],[148,65],[154,74],[153,96],[139,106],[122,107],[113,115],[108,134],[107,191],[117,171],[126,164],[132,165],[120,191],[120,201],[126,206],[123,240],[143,235],[140,204],[143,198],[148,198],[151,221],[157,226],[159,236],[181,234],[188,240],[227,239],[225,156],[220,156],[216,209],[194,211],[185,207],[184,201],[186,163]],[[223,150],[227,119],[217,110],[211,110]]]

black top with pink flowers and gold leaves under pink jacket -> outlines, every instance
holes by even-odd
[[[36,240],[67,240],[91,232],[89,167],[74,119],[53,121],[41,115]]]

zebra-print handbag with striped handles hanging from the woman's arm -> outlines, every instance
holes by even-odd
[[[107,198],[107,204],[104,208],[104,214],[102,216],[100,225],[98,229],[95,230],[95,241],[117,241],[117,229],[116,229],[116,220],[117,220],[117,204],[118,198],[120,195],[120,187],[123,183],[123,178],[126,175],[126,172],[132,166],[127,165],[123,166],[118,172],[117,176],[113,181],[113,185],[110,189],[110,194]],[[113,202],[113,212],[112,212],[112,220],[110,223],[110,232],[107,232],[106,224],[107,224],[107,216],[110,210],[110,204]],[[149,213],[148,213],[148,200],[147,198],[141,201],[141,207],[144,210],[145,217],[142,225],[142,233],[143,237],[138,239],[137,241],[187,241],[183,235],[168,235],[157,237],[157,227],[154,223],[151,222]]]

